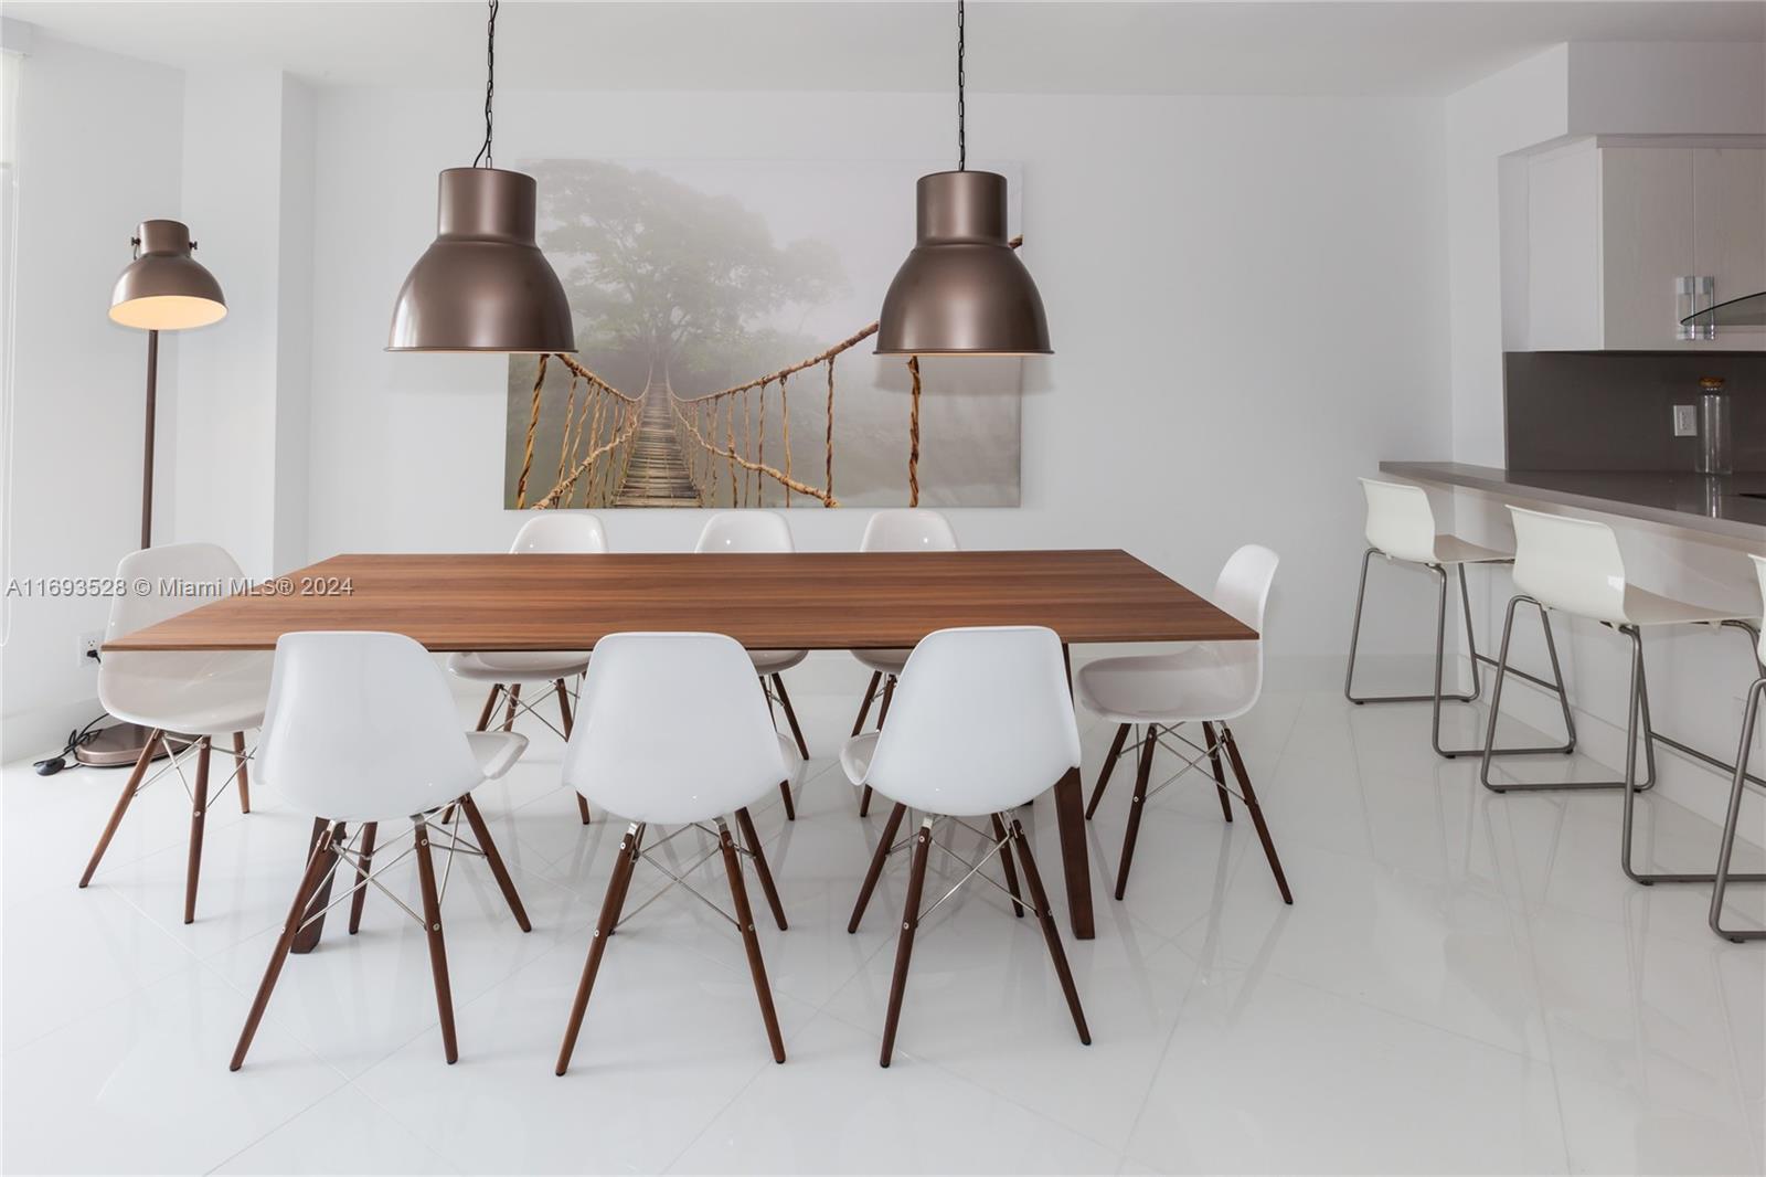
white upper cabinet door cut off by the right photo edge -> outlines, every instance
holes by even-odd
[[[1766,150],[1692,152],[1692,272],[1717,279],[1717,300],[1766,290]],[[1761,346],[1766,330],[1724,327],[1731,346]]]

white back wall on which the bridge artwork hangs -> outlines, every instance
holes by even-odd
[[[434,230],[436,171],[472,157],[479,101],[320,94],[314,557],[494,550],[519,523],[500,509],[503,361],[381,350]],[[977,163],[1023,164],[1056,355],[1026,371],[1024,505],[957,513],[964,541],[1123,546],[1201,588],[1234,546],[1268,543],[1286,560],[1273,654],[1335,679],[1355,475],[1450,444],[1441,104],[977,95],[970,113]],[[941,94],[509,92],[496,111],[505,164],[925,159],[950,134]],[[604,518],[625,550],[682,550],[703,520]],[[800,546],[851,546],[864,513],[791,523]],[[1416,633],[1429,603],[1392,613],[1388,633]]]

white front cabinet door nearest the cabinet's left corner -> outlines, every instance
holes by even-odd
[[[1676,348],[1676,279],[1694,262],[1692,150],[1600,148],[1602,346]]]

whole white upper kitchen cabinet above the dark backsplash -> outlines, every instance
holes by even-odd
[[[1766,290],[1766,150],[1581,140],[1528,166],[1535,352],[1761,350],[1766,330],[1676,338],[1678,279]]]

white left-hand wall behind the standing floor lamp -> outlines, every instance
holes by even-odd
[[[108,576],[136,548],[147,338],[106,318],[148,217],[180,217],[184,78],[178,71],[35,35],[18,110],[19,233],[14,435],[16,502],[0,521],[9,578]],[[205,336],[207,330],[198,332]],[[161,392],[178,345],[161,346]],[[161,437],[171,428],[162,417]],[[157,507],[171,505],[161,461]],[[99,599],[11,599],[0,649],[4,758],[48,753],[95,714],[95,670],[74,642],[102,629]]]

